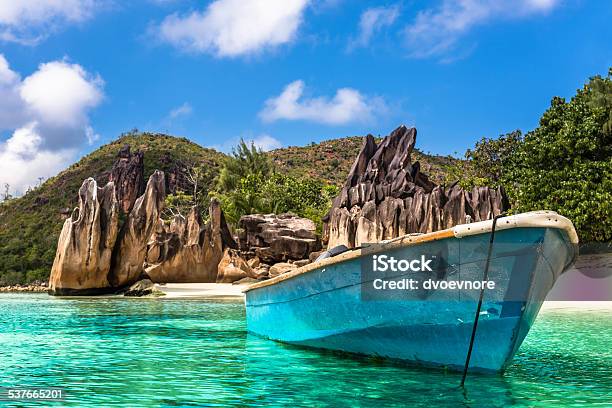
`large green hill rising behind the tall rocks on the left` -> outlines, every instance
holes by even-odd
[[[22,197],[0,204],[0,285],[46,279],[64,219],[78,205],[84,179],[105,184],[122,146],[144,154],[145,179],[155,170],[170,171],[179,163],[218,167],[224,155],[185,138],[129,133],[102,146]]]

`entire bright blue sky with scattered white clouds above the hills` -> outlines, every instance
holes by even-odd
[[[227,151],[403,123],[461,155],[605,74],[610,21],[581,0],[1,2],[0,182],[135,127]]]

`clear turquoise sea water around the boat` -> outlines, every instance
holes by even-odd
[[[545,311],[503,376],[416,369],[247,335],[235,302],[0,295],[0,386],[58,406],[611,406],[612,311]],[[0,402],[0,405],[7,402]],[[19,406],[23,406],[20,402]]]

